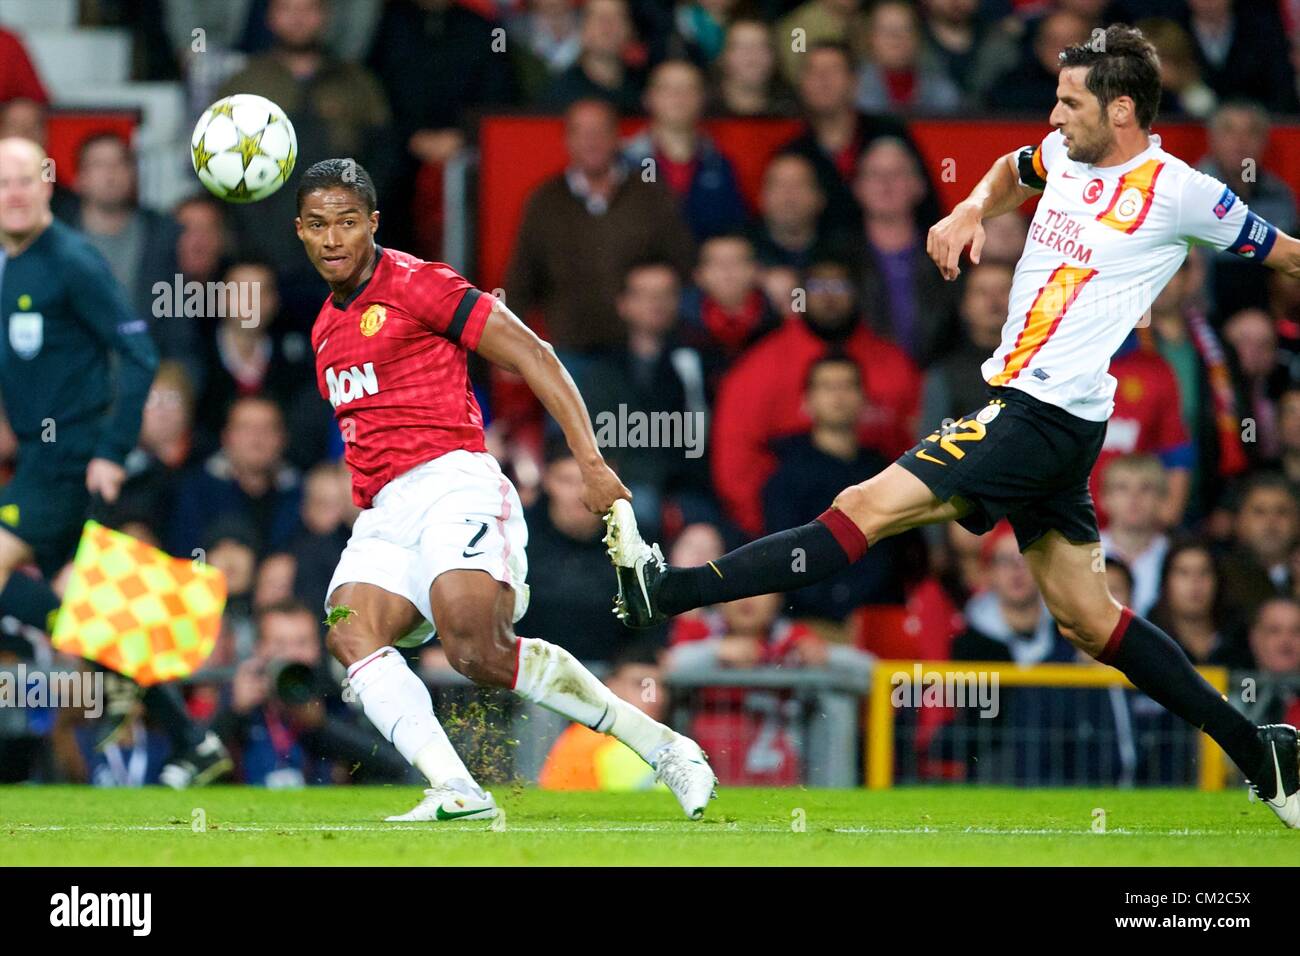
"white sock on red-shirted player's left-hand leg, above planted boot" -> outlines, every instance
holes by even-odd
[[[477,787],[433,713],[429,688],[393,648],[380,648],[347,669],[347,687],[370,723],[429,783],[468,780]]]

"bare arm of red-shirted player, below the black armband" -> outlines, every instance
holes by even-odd
[[[586,403],[568,369],[555,358],[550,342],[540,338],[504,304],[497,303],[488,316],[477,351],[494,365],[528,382],[528,388],[559,423],[582,468],[582,503],[589,511],[604,514],[619,498],[632,498],[632,492],[606,464]]]

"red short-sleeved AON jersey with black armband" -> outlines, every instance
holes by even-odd
[[[416,466],[486,450],[465,358],[497,302],[450,265],[377,255],[370,278],[342,304],[330,295],[312,326],[316,385],[334,406],[360,507]]]

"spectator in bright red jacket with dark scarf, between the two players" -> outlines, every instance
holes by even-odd
[[[920,372],[901,349],[862,323],[848,265],[829,259],[814,264],[803,290],[806,311],[742,355],[718,389],[714,488],[728,516],[750,535],[763,532],[762,490],[776,470],[771,442],[811,428],[803,382],[823,355],[842,352],[862,372],[863,446],[894,458],[913,442]]]

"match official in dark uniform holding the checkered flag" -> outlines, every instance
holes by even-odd
[[[75,553],[92,496],[117,501],[157,352],[104,258],[51,215],[44,160],[31,140],[0,139],[0,399],[18,438],[17,470],[0,489],[0,614],[48,633],[58,610],[48,580]],[[17,571],[32,563],[46,580]],[[129,709],[139,688],[108,678],[127,688]],[[112,696],[109,731],[125,717]],[[172,740],[164,783],[207,783],[229,769],[174,685],[143,700]]]

